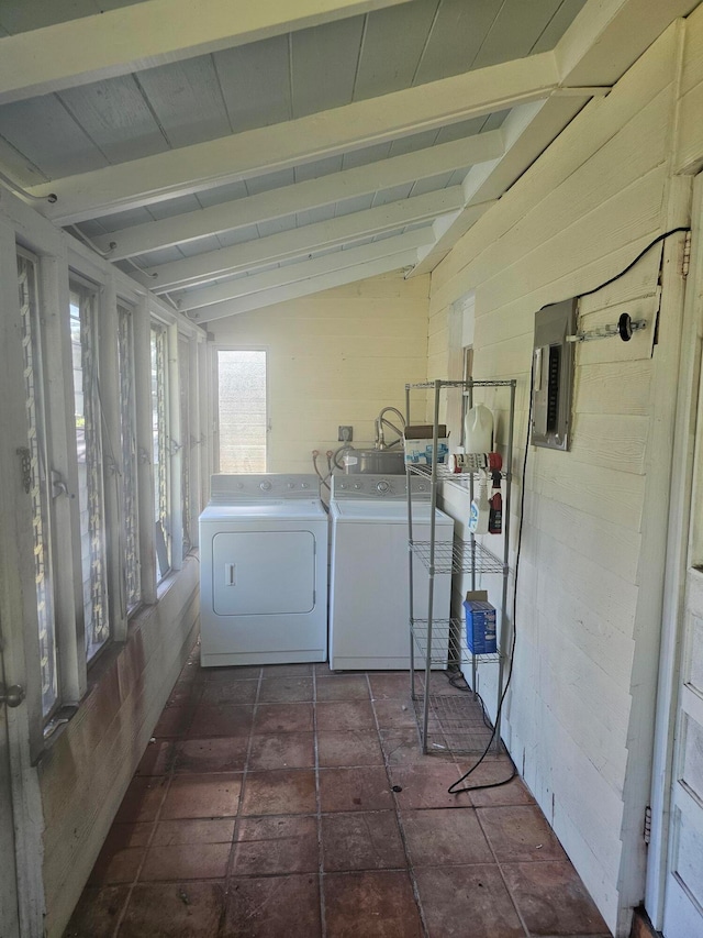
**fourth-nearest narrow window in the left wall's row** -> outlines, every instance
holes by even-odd
[[[154,323],[150,336],[154,519],[156,525],[156,569],[160,582],[171,566],[166,329]]]

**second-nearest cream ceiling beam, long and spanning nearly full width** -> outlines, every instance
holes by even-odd
[[[550,52],[393,91],[272,126],[183,146],[35,186],[55,192],[42,212],[58,224],[111,214],[436,130],[547,97]]]

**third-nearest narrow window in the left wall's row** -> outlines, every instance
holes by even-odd
[[[134,395],[134,312],[118,304],[118,358],[120,371],[120,556],[126,611],[142,598],[140,519],[137,498],[136,406]]]

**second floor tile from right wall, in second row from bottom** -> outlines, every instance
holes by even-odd
[[[413,867],[493,863],[473,808],[435,808],[401,813]]]

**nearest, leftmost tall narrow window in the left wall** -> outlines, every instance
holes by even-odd
[[[32,534],[34,543],[34,580],[38,621],[40,667],[42,674],[42,714],[49,719],[59,705],[59,676],[54,617],[54,582],[52,570],[51,504],[44,422],[44,383],[40,312],[36,287],[36,262],[24,252],[18,254],[18,284],[22,316],[24,354],[24,393],[27,417],[27,448],[21,453],[25,486],[32,498]]]

